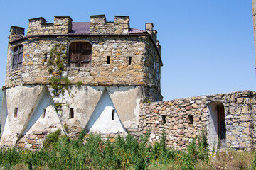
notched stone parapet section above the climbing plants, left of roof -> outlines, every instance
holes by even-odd
[[[28,36],[67,34],[72,30],[73,19],[70,16],[55,16],[54,23],[47,23],[43,17],[28,20]]]

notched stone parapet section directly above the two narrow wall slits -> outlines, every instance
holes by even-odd
[[[107,22],[105,15],[90,16],[90,34],[128,34],[129,16],[114,16]]]

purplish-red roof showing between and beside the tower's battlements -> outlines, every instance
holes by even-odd
[[[90,34],[90,22],[72,22],[72,30],[68,34]],[[146,33],[146,31],[130,28],[129,33]]]

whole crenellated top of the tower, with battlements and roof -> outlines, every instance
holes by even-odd
[[[160,57],[161,46],[157,41],[157,31],[153,29],[153,23],[146,23],[145,30],[130,28],[129,16],[114,16],[113,22],[106,21],[105,15],[90,16],[90,22],[79,23],[73,22],[70,16],[55,16],[54,23],[47,23],[43,17],[31,18],[28,21],[26,36],[24,36],[24,28],[11,26],[10,43],[37,36],[149,36]]]

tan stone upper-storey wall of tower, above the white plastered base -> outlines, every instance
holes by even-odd
[[[92,66],[88,68],[66,67],[65,74],[70,81],[84,84],[117,84],[117,85],[142,85],[143,60],[145,55],[144,38],[33,38],[26,40],[23,51],[23,67],[11,69],[12,49],[20,44],[16,43],[9,49],[8,72],[6,73],[6,86],[14,84],[41,83],[47,84],[49,74],[45,61],[50,55],[50,50],[55,45],[64,45],[63,52],[68,55],[68,45],[75,41],[92,43]],[[107,64],[107,57],[110,64]],[[132,64],[129,65],[129,57]],[[86,77],[86,79],[85,79]]]

